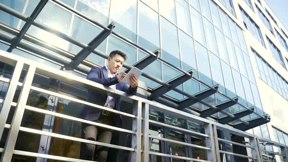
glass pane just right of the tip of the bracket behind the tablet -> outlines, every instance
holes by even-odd
[[[180,67],[177,27],[161,17],[162,56]]]

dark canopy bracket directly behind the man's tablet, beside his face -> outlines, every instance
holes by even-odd
[[[146,56],[144,59],[136,62],[133,66],[137,67],[140,70],[143,70],[145,67],[147,67],[149,64],[151,64],[153,61],[157,60],[160,56],[160,49],[157,49],[156,51],[154,51],[153,53],[156,55],[148,55]],[[130,71],[130,69],[125,70],[125,73],[128,73]]]

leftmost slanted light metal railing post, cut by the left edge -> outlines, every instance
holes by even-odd
[[[13,101],[13,97],[16,92],[16,88],[18,85],[18,81],[19,81],[22,69],[23,69],[23,62],[17,61],[14,72],[13,72],[13,76],[9,83],[9,88],[7,90],[5,99],[3,101],[2,110],[0,111],[0,140],[4,131],[4,126],[8,118],[8,114],[11,108],[11,103]]]

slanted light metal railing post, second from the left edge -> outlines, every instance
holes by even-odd
[[[21,89],[21,93],[18,99],[18,103],[16,106],[15,114],[11,123],[11,128],[7,137],[7,141],[4,146],[3,154],[0,162],[11,162],[13,150],[15,147],[15,143],[17,141],[21,121],[23,118],[26,102],[28,99],[28,95],[30,92],[30,88],[32,85],[32,81],[34,78],[36,67],[33,65],[29,66],[27,74],[25,76],[23,86]]]

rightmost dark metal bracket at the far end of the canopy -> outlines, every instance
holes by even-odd
[[[266,124],[269,121],[270,121],[270,116],[265,115],[262,117],[257,117],[257,118],[251,119],[250,121],[248,121],[249,122],[248,125],[243,124],[243,123],[239,123],[239,124],[234,125],[233,127],[236,129],[247,131],[247,130],[254,128],[256,126]]]

